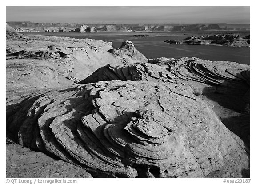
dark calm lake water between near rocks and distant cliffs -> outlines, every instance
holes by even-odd
[[[130,40],[136,49],[143,53],[148,59],[157,57],[181,58],[198,57],[211,61],[235,61],[240,64],[250,64],[250,48],[246,47],[225,47],[214,45],[173,45],[164,42],[165,40],[179,40],[192,35],[205,35],[222,32],[201,32],[201,33],[177,33],[177,32],[97,32],[97,33],[48,33],[48,32],[27,32],[25,34],[42,34],[51,36],[66,36],[71,38],[90,38],[96,40],[111,41],[113,47],[119,48],[123,41]],[[230,33],[230,32],[225,32]],[[247,36],[250,32],[232,32]],[[147,34],[152,37],[131,37],[132,35]]]

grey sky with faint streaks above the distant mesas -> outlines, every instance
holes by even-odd
[[[250,6],[6,6],[6,21],[250,24]]]

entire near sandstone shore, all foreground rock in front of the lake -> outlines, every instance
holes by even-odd
[[[7,25],[6,136],[6,177],[248,178],[250,66]]]

